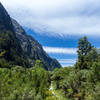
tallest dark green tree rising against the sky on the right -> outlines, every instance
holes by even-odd
[[[83,37],[78,42],[78,62],[76,63],[76,68],[85,69],[88,67],[88,61],[86,60],[87,55],[93,49],[93,46],[88,41],[87,37]]]

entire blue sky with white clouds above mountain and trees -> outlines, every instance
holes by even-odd
[[[100,0],[0,0],[11,17],[62,66],[77,61],[80,37],[100,47]]]

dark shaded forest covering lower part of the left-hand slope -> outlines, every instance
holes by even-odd
[[[20,43],[12,32],[0,32],[0,62],[5,60],[11,65],[29,67],[29,62],[25,57]]]

